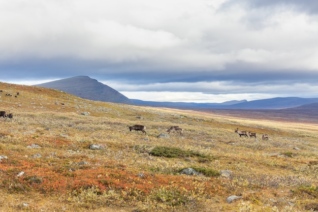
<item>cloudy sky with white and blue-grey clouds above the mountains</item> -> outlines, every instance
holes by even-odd
[[[316,0],[0,0],[0,81],[130,99],[318,97]]]

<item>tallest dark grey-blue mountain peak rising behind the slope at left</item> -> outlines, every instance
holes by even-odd
[[[37,84],[36,86],[62,90],[63,92],[88,100],[133,104],[129,98],[120,94],[117,90],[88,76],[76,76]]]

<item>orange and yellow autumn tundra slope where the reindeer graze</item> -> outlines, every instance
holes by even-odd
[[[318,210],[317,124],[89,101],[35,86],[0,89],[0,110],[14,115],[0,120],[0,156],[8,157],[0,162],[0,211]],[[130,132],[135,124],[147,135]],[[157,137],[176,125],[182,135]],[[257,139],[240,138],[237,127]],[[179,174],[186,167],[206,174]],[[221,170],[233,173],[215,174]],[[242,198],[228,203],[231,195]]]

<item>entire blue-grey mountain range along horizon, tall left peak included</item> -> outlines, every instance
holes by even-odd
[[[67,79],[37,84],[36,86],[62,90],[83,99],[123,103],[129,105],[151,106],[151,107],[170,107],[170,108],[210,108],[210,109],[285,109],[300,107],[302,105],[318,103],[318,98],[272,98],[254,101],[233,100],[223,103],[186,103],[186,102],[152,102],[136,99],[129,99],[117,92],[117,90],[91,79],[88,76],[76,76]],[[315,107],[314,105],[313,107]]]

